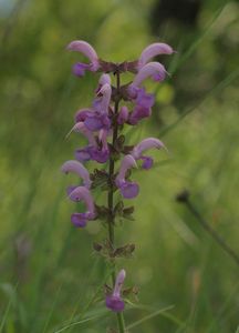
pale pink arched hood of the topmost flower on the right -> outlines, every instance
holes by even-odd
[[[149,44],[141,53],[141,57],[138,59],[138,69],[142,69],[142,67],[145,65],[148,62],[148,60],[150,60],[152,58],[158,54],[172,54],[172,53],[174,53],[174,50],[168,44],[165,43]]]

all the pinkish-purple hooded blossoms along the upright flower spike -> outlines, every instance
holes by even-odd
[[[165,148],[156,138],[146,138],[134,147],[125,145],[125,137],[122,133],[126,125],[135,127],[152,114],[155,98],[145,90],[144,82],[148,78],[162,82],[167,71],[162,63],[150,60],[158,54],[172,54],[174,50],[165,43],[153,43],[143,50],[138,60],[122,63],[100,59],[92,46],[81,40],[71,42],[67,50],[80,52],[89,59],[87,63],[77,62],[73,65],[75,75],[83,77],[85,71],[101,72],[92,105],[75,113],[75,123],[71,130],[83,135],[87,144],[75,151],[75,160],[62,165],[64,173],[75,173],[81,179],[81,185],[67,189],[67,196],[72,201],[82,201],[85,204],[85,212],[75,212],[71,216],[75,226],[84,228],[89,221],[97,218],[92,195],[93,176],[84,167],[87,161],[108,163],[108,173],[104,171],[110,184],[108,191],[114,193],[118,190],[124,199],[133,199],[138,195],[139,185],[131,180],[132,169],[138,168],[138,164],[145,170],[150,169],[154,161],[146,152],[154,148]],[[134,73],[134,79],[121,85],[119,77],[127,71]],[[111,73],[116,77],[116,87],[112,84]],[[118,169],[114,165],[116,162]],[[124,279],[125,271],[122,270],[113,293],[106,296],[106,306],[116,312],[124,309],[119,296]]]

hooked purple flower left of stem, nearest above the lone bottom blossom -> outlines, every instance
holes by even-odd
[[[71,221],[76,228],[84,228],[87,221],[95,219],[94,202],[89,189],[77,186],[69,194],[69,198],[72,201],[83,201],[86,205],[86,212],[71,215]]]

